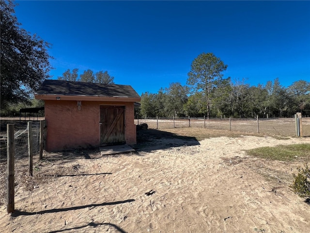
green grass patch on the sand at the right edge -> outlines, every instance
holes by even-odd
[[[310,158],[310,144],[295,144],[277,147],[261,147],[247,150],[248,155],[278,161],[307,161]]]

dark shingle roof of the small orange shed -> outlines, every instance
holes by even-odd
[[[130,85],[45,80],[35,94],[140,98]]]

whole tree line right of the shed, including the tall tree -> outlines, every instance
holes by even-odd
[[[250,86],[223,79],[227,68],[212,53],[200,54],[188,72],[187,85],[171,83],[157,93],[142,93],[138,117],[206,116],[291,117],[296,112],[310,116],[310,82],[299,80],[288,87],[279,78]]]

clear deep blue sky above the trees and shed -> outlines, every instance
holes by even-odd
[[[310,82],[310,1],[16,1],[22,28],[52,44],[67,69],[108,70],[139,94],[186,84],[192,61],[212,52],[224,78],[289,86]]]

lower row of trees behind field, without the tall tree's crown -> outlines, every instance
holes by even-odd
[[[296,112],[310,116],[309,93],[310,82],[304,80],[296,81],[289,87],[281,86],[278,78],[258,86],[229,82],[210,96],[209,117],[292,117]],[[207,101],[204,93],[191,93],[188,86],[171,83],[155,94],[142,93],[141,106],[136,115],[140,118],[207,117]]]

